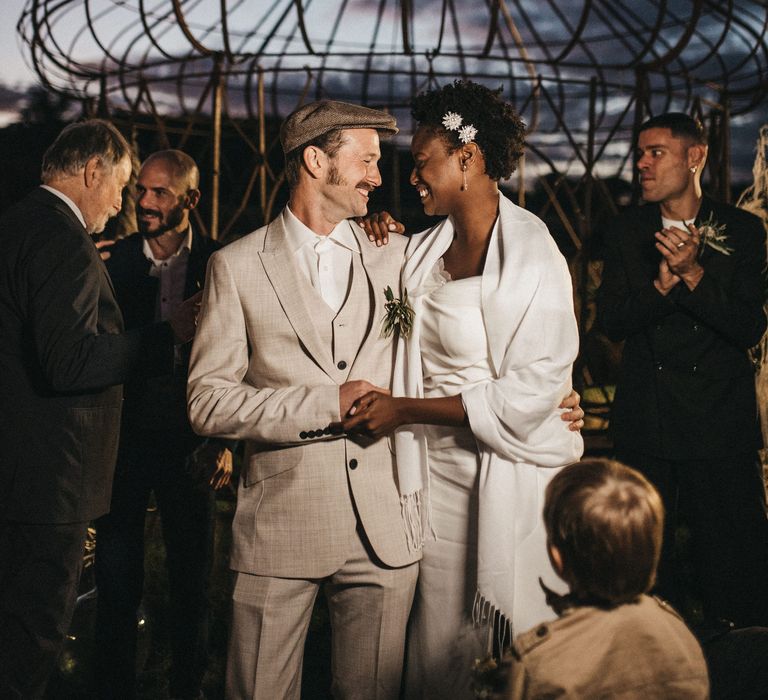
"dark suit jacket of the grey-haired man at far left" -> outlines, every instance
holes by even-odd
[[[0,219],[0,518],[67,523],[109,509],[121,384],[169,371],[168,324],[124,332],[98,251],[37,189]]]

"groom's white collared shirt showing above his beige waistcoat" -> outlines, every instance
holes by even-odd
[[[352,253],[360,253],[349,223],[342,221],[327,236],[318,236],[286,207],[283,225],[299,269],[330,309],[338,313],[349,292]]]

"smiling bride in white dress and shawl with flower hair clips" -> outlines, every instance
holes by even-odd
[[[540,581],[564,591],[541,510],[549,480],[583,451],[581,421],[568,430],[558,410],[578,330],[545,224],[498,188],[523,153],[511,105],[456,81],[416,97],[412,114],[411,184],[447,218],[408,243],[414,322],[400,327],[393,396],[361,397],[344,427],[395,432],[404,520],[423,544],[407,695],[470,698],[491,630],[508,643],[553,619]],[[382,217],[368,226],[386,235]]]

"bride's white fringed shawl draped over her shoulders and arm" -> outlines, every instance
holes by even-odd
[[[415,312],[400,339],[393,394],[423,396],[419,353],[424,295],[441,284],[436,265],[454,238],[450,218],[413,236],[403,287]],[[493,379],[462,393],[480,454],[478,595],[475,614],[499,613],[518,634],[554,617],[539,577],[563,590],[549,563],[542,520],[544,489],[578,460],[581,435],[561,420],[579,349],[571,277],[544,223],[504,196],[481,282],[482,314]],[[395,434],[398,482],[409,541],[432,532],[427,445],[421,426]]]

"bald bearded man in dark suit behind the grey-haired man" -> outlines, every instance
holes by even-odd
[[[158,151],[136,182],[139,232],[112,246],[107,260],[128,329],[167,318],[205,282],[220,245],[192,226],[200,200],[195,161]],[[144,582],[144,519],[150,492],[160,511],[169,597],[172,698],[197,698],[205,673],[214,489],[229,482],[232,453],[204,441],[187,420],[189,346],[173,374],[125,386],[117,469],[108,515],[97,521],[96,673],[99,698],[135,695],[137,613]],[[205,463],[203,463],[205,462]],[[200,474],[190,467],[199,464]]]

